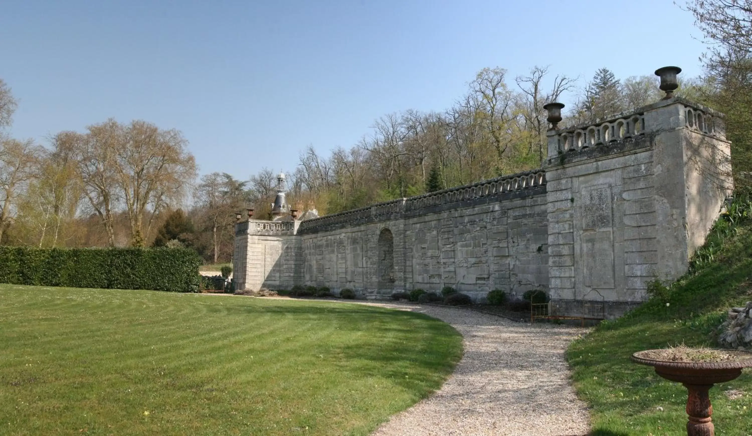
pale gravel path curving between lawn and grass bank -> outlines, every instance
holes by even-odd
[[[524,324],[451,307],[366,303],[426,313],[464,337],[444,386],[392,416],[373,436],[587,434],[587,408],[569,386],[567,344],[582,329]]]

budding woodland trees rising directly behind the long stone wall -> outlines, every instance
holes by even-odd
[[[595,122],[663,97],[654,75],[619,80],[608,68],[577,86],[578,78],[535,67],[508,80],[502,68],[484,68],[467,92],[448,109],[403,111],[376,120],[357,144],[337,147],[327,156],[306,148],[291,174],[290,198],[296,207],[336,213],[393,198],[420,195],[451,186],[539,168],[546,158],[544,104],[565,92],[575,104],[563,126]],[[681,80],[677,95],[705,99],[704,79]],[[252,177],[259,216],[274,194],[273,174]]]

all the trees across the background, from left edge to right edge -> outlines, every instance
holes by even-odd
[[[708,42],[700,77],[677,95],[726,114],[735,188],[752,186],[752,0],[696,0],[685,9]],[[336,213],[538,168],[548,128],[544,104],[568,96],[563,125],[594,122],[658,101],[653,75],[589,80],[534,67],[508,77],[484,68],[443,111],[402,111],[374,121],[352,147],[308,147],[288,174],[293,208]],[[247,180],[214,172],[197,180],[187,141],[143,120],[106,120],[59,132],[46,147],[7,133],[17,101],[0,80],[0,244],[37,247],[183,245],[208,262],[232,256],[235,213],[268,219],[277,185],[268,168]],[[184,211],[183,211],[184,209]]]

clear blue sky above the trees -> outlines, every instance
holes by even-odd
[[[441,111],[484,67],[510,85],[534,65],[696,76],[699,36],[672,0],[4,0],[0,77],[18,138],[148,120],[183,132],[201,174],[247,179],[352,147],[381,115]]]

